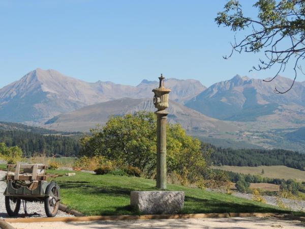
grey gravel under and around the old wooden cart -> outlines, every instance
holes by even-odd
[[[7,211],[5,209],[5,196],[3,195],[5,189],[6,189],[6,182],[3,181],[3,178],[5,177],[6,171],[0,170],[0,218],[8,218]],[[44,204],[40,204],[39,202],[27,202],[26,203],[26,210],[28,215],[24,214],[23,205],[21,202],[20,211],[18,217],[46,217],[46,213],[44,210]],[[73,216],[70,214],[67,214],[63,211],[58,210],[58,213],[56,217],[62,217],[62,216]]]

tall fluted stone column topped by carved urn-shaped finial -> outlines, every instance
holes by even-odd
[[[166,124],[168,112],[169,89],[164,87],[164,77],[161,74],[159,88],[154,89],[154,104],[157,115],[157,188],[166,189]]]

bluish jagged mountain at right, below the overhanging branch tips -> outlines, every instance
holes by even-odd
[[[296,82],[286,94],[275,94],[275,87],[284,91],[291,79],[277,77],[275,81],[263,82],[236,75],[230,80],[211,85],[191,99],[186,106],[222,120],[255,121],[258,117],[271,115],[280,104],[305,106],[305,87]]]

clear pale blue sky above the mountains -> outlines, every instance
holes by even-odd
[[[0,0],[0,88],[36,68],[130,85],[160,73],[206,86],[237,73],[271,76],[274,71],[248,72],[261,54],[222,58],[234,33],[214,18],[226,2]],[[255,12],[254,1],[241,2]]]

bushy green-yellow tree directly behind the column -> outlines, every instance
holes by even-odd
[[[111,117],[103,127],[80,139],[80,155],[102,155],[109,160],[138,167],[147,177],[156,172],[156,116],[153,112]],[[180,125],[167,125],[167,170],[196,182],[206,169],[198,139]]]

